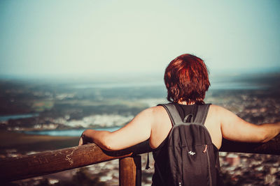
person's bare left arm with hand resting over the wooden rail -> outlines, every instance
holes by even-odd
[[[105,150],[121,150],[146,141],[151,135],[153,107],[141,111],[127,125],[114,132],[85,130],[80,137],[79,146],[93,142]]]

